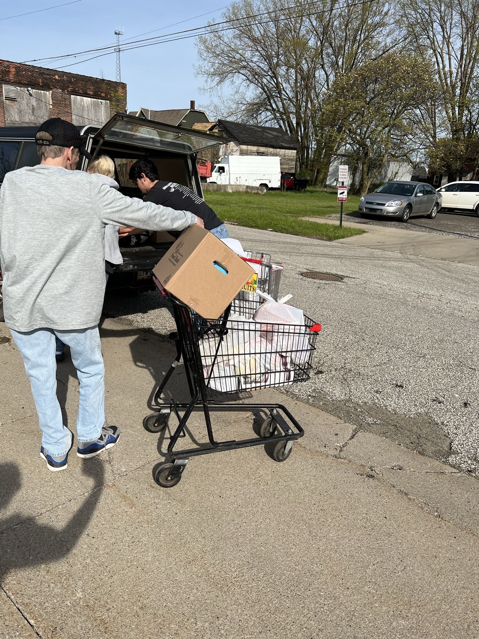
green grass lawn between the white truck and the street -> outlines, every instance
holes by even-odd
[[[277,233],[303,235],[319,240],[339,240],[364,233],[362,229],[317,224],[300,217],[324,217],[339,213],[337,192],[310,187],[300,191],[259,193],[224,193],[205,191],[206,203],[225,222],[253,229],[272,229]],[[344,213],[358,210],[359,197],[348,197]]]

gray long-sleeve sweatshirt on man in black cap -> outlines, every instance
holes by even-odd
[[[17,331],[95,326],[105,294],[106,224],[185,229],[186,211],[123,196],[95,176],[40,164],[0,189],[5,323]]]

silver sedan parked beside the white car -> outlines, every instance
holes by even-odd
[[[374,193],[360,199],[362,217],[383,215],[407,222],[411,215],[434,219],[441,208],[442,196],[425,182],[386,182]]]

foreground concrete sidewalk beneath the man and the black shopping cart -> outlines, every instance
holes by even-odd
[[[8,330],[1,325],[4,334]],[[478,483],[311,406],[264,390],[305,427],[287,461],[258,446],[192,458],[172,489],[146,433],[174,349],[107,320],[107,422],[118,446],[50,473],[29,384],[0,345],[2,637],[445,638],[479,633]],[[58,368],[74,430],[77,382]],[[182,367],[169,387],[185,397]],[[188,436],[204,441],[201,414]],[[217,414],[218,437],[252,416]]]

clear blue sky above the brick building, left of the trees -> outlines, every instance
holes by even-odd
[[[199,3],[194,0],[81,0],[49,11],[2,20],[2,18],[43,9],[68,0],[23,0],[22,3],[0,3],[0,58],[23,62],[46,56],[74,53],[102,47],[114,42],[116,27],[123,27],[122,38],[137,39],[146,31],[162,29],[142,36],[172,33],[199,27],[213,18],[220,20],[222,8],[229,0]],[[218,11],[215,11],[218,10]],[[170,26],[201,13],[213,12],[176,26]],[[121,54],[121,80],[128,85],[128,111],[180,109],[190,100],[208,104],[209,96],[199,92],[201,77],[195,77],[197,63],[194,38],[158,44]],[[91,54],[92,56],[95,54]],[[87,56],[89,57],[89,56]],[[33,63],[59,68],[76,62]],[[65,70],[114,80],[116,56],[111,54]]]

